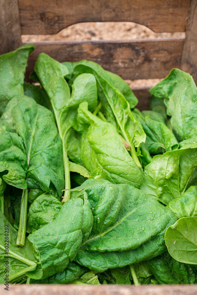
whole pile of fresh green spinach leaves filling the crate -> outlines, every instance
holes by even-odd
[[[41,53],[24,82],[33,49],[0,56],[0,283],[8,254],[10,283],[196,283],[192,77],[173,69],[140,112],[91,61]]]

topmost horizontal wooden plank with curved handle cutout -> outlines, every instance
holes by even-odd
[[[80,22],[136,22],[184,32],[190,0],[20,0],[22,35],[56,34]]]

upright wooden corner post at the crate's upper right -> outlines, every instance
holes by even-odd
[[[197,84],[197,0],[192,0],[185,44],[181,59],[181,69],[190,73]]]

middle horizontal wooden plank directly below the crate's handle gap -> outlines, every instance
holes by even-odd
[[[34,42],[27,73],[33,71],[38,55],[44,52],[59,62],[95,61],[125,80],[164,78],[172,68],[179,68],[183,43],[182,38]]]

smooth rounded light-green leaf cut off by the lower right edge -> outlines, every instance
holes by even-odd
[[[165,242],[170,255],[183,263],[197,264],[197,217],[184,217],[168,227]]]

